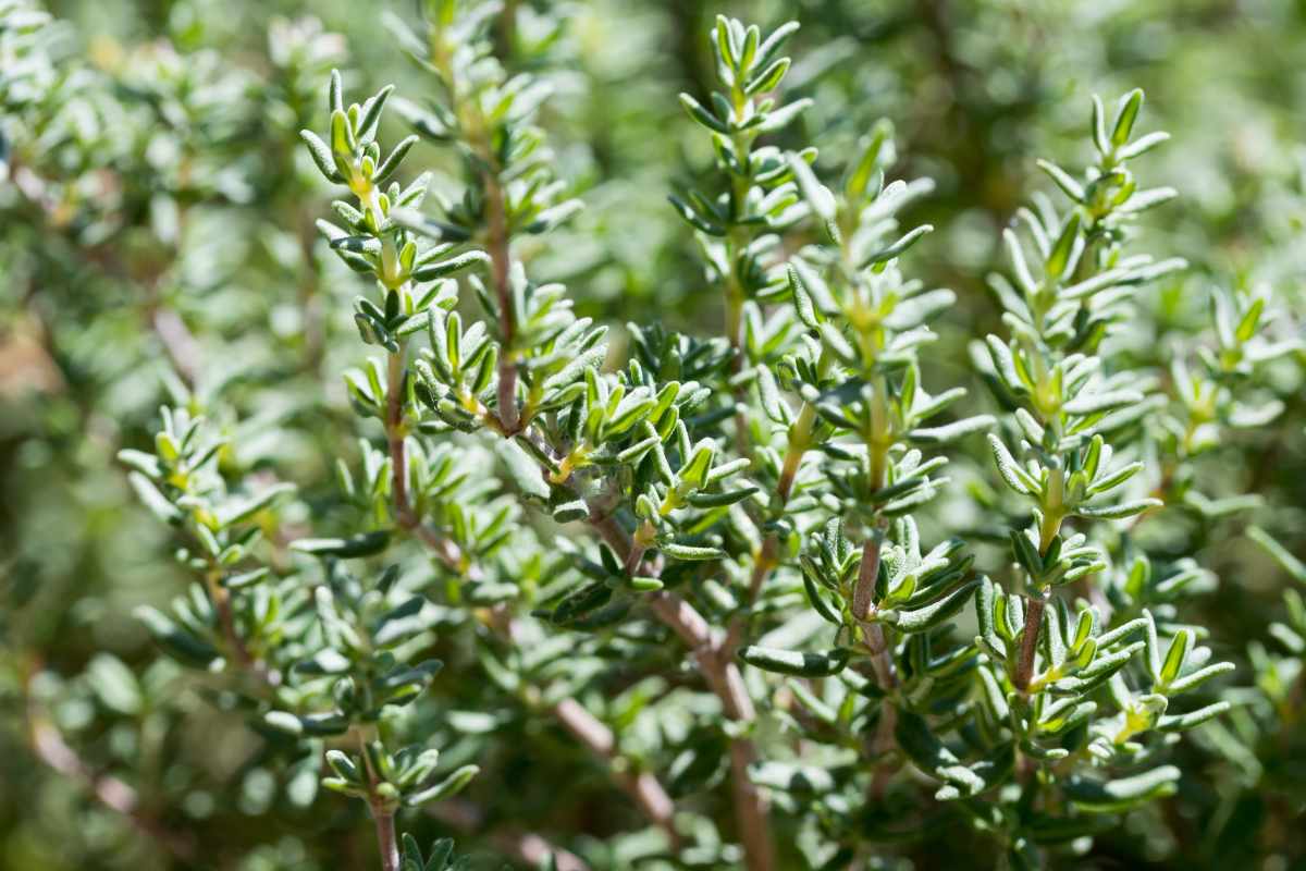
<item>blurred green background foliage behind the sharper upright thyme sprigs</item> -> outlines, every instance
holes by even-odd
[[[1131,353],[1155,364],[1161,349],[1200,341],[1213,289],[1269,286],[1303,311],[1302,0],[515,5],[499,38],[552,84],[543,124],[559,176],[577,180],[586,204],[549,248],[525,255],[533,273],[564,281],[577,308],[602,321],[704,332],[722,317],[692,235],[665,198],[710,185],[705,138],[675,94],[708,90],[703,34],[718,10],[764,27],[802,22],[788,87],[815,106],[786,132],[795,144],[846,154],[888,118],[897,175],[938,182],[913,206],[913,222],[939,229],[914,262],[959,303],[940,325],[927,381],[974,385],[966,341],[998,317],[983,279],[998,264],[1000,227],[1046,188],[1036,157],[1083,162],[1094,91],[1144,87],[1148,129],[1171,132],[1149,158],[1149,179],[1177,187],[1181,201],[1153,213],[1148,232],[1152,249],[1192,264],[1143,296],[1124,340]],[[549,16],[537,9],[545,5]],[[9,94],[0,119],[9,151],[0,183],[0,868],[371,862],[359,811],[316,795],[315,759],[289,773],[265,765],[238,712],[155,658],[132,611],[180,592],[183,569],[112,458],[148,445],[159,404],[178,402],[238,436],[223,469],[299,484],[290,525],[300,534],[345,511],[332,462],[357,457],[363,434],[340,379],[357,356],[357,282],[313,229],[330,192],[296,132],[321,128],[319,84],[333,65],[350,90],[393,81],[422,98],[424,80],[377,24],[389,7],[411,12],[350,0],[47,4],[60,21],[48,76],[61,102],[34,111]],[[454,170],[422,145],[407,163]],[[1255,520],[1293,552],[1306,548],[1299,372],[1288,360],[1264,379],[1262,389],[1286,405],[1273,424],[1202,457],[1192,490],[1205,504],[1139,531],[1218,578],[1194,619],[1212,627],[1218,658],[1239,663],[1230,697],[1242,704],[1181,750],[1194,777],[1179,793],[1101,838],[1085,867],[1306,867],[1301,650],[1269,632],[1284,619],[1289,581],[1243,535]],[[981,487],[973,478],[959,487]],[[1259,501],[1218,501],[1239,494]],[[943,517],[982,531],[985,518],[965,504],[946,504]],[[473,676],[478,666],[456,632],[440,656],[445,675],[423,704],[487,773],[460,819],[407,829],[423,842],[457,833],[473,854],[500,861],[525,825],[588,832],[567,846],[596,867],[623,867],[639,845],[605,840],[632,814],[607,778]],[[640,692],[628,689],[609,713],[627,705],[633,721]],[[966,845],[927,838],[892,853],[885,867],[956,867]]]

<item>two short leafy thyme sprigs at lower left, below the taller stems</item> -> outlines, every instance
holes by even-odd
[[[145,504],[189,539],[178,551],[200,580],[165,615],[141,620],[163,649],[204,671],[247,679],[257,726],[320,747],[320,739],[364,734],[387,708],[411,703],[440,670],[419,659],[431,629],[431,607],[397,585],[390,567],[358,578],[341,558],[377,552],[385,535],[299,539],[294,547],[324,560],[324,582],[306,588],[260,564],[256,546],[270,509],[294,488],[270,484],[231,492],[218,470],[225,443],[204,420],[165,407],[155,453],[124,451],[132,484]],[[334,772],[324,784],[389,811],[457,791],[475,773],[462,767],[432,782],[439,751],[418,746],[389,752],[380,740],[363,752],[326,753]]]

